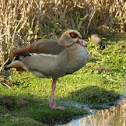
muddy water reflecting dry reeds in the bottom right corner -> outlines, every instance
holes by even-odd
[[[109,109],[97,110],[67,124],[55,126],[126,126],[126,99]]]

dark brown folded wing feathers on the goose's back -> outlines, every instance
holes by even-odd
[[[45,53],[45,54],[59,54],[64,50],[63,46],[58,44],[56,40],[39,40],[30,46],[21,48],[15,52],[13,52],[13,57],[22,54],[28,53]]]

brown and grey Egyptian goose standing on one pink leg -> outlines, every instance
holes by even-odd
[[[56,80],[79,70],[87,61],[88,50],[81,34],[76,30],[67,30],[59,40],[39,40],[13,52],[13,60],[5,68],[22,69],[41,78],[52,78],[49,106],[52,109],[65,109],[54,104]]]

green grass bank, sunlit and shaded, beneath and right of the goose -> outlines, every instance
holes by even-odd
[[[119,99],[126,83],[126,36],[123,39],[104,39],[104,42],[104,50],[89,44],[91,59],[87,65],[72,75],[59,78],[55,100],[57,104],[67,107],[64,111],[52,110],[47,106],[51,94],[51,79],[41,79],[29,72],[16,72],[9,76],[13,88],[7,89],[0,85],[0,96],[23,98],[30,103],[0,108],[0,124],[8,126],[11,122],[13,126],[41,126],[43,123],[67,122],[87,111],[84,108],[70,107],[64,104],[65,101],[95,106]],[[6,113],[10,113],[10,116],[4,116]]]

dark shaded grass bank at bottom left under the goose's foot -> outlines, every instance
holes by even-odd
[[[82,116],[87,111],[84,108],[66,106],[67,109],[53,110],[48,106],[48,99],[41,99],[33,96],[24,97],[24,94],[14,96],[9,94],[0,98],[0,125],[27,125],[43,126],[43,124],[53,125],[67,123],[73,118]],[[6,110],[6,111],[4,111]],[[24,121],[22,121],[24,119]],[[8,125],[11,124],[11,125]],[[32,124],[32,125],[31,125]]]

